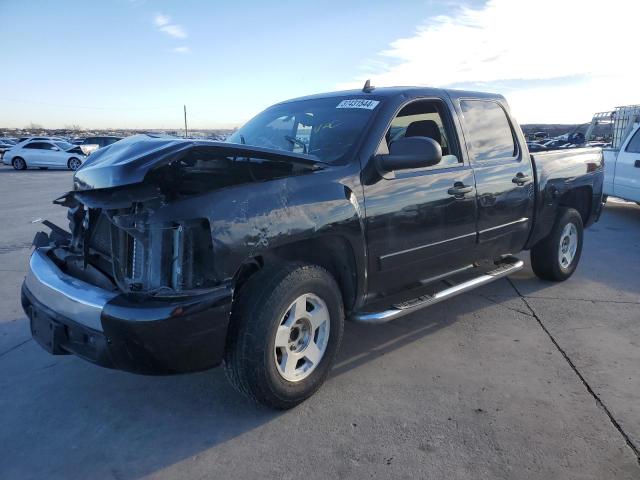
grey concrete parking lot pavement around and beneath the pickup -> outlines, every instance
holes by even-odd
[[[325,386],[272,412],[220,369],[135,376],[29,340],[30,222],[64,224],[50,201],[70,183],[0,168],[3,479],[640,478],[640,207],[608,205],[563,284],[527,268],[388,325],[347,324]]]

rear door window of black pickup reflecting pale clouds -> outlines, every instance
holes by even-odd
[[[513,130],[506,112],[492,101],[462,100],[471,155],[476,161],[512,159],[517,155]]]

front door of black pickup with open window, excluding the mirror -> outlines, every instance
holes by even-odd
[[[396,171],[365,183],[369,294],[392,293],[474,260],[476,200],[449,109],[442,100],[414,100],[392,121],[378,153],[408,136],[441,144],[435,166]]]

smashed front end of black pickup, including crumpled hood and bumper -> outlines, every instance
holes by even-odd
[[[54,201],[69,231],[45,222],[51,233],[34,239],[22,294],[34,338],[139,373],[217,365],[233,286],[216,277],[212,219],[189,205],[318,168],[306,155],[148,136],[96,152]]]

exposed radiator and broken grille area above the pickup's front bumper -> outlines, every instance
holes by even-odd
[[[153,222],[160,199],[125,208],[95,206],[73,193],[56,200],[69,206],[71,234],[40,244],[67,273],[101,288],[127,294],[181,296],[216,284],[209,220]]]

